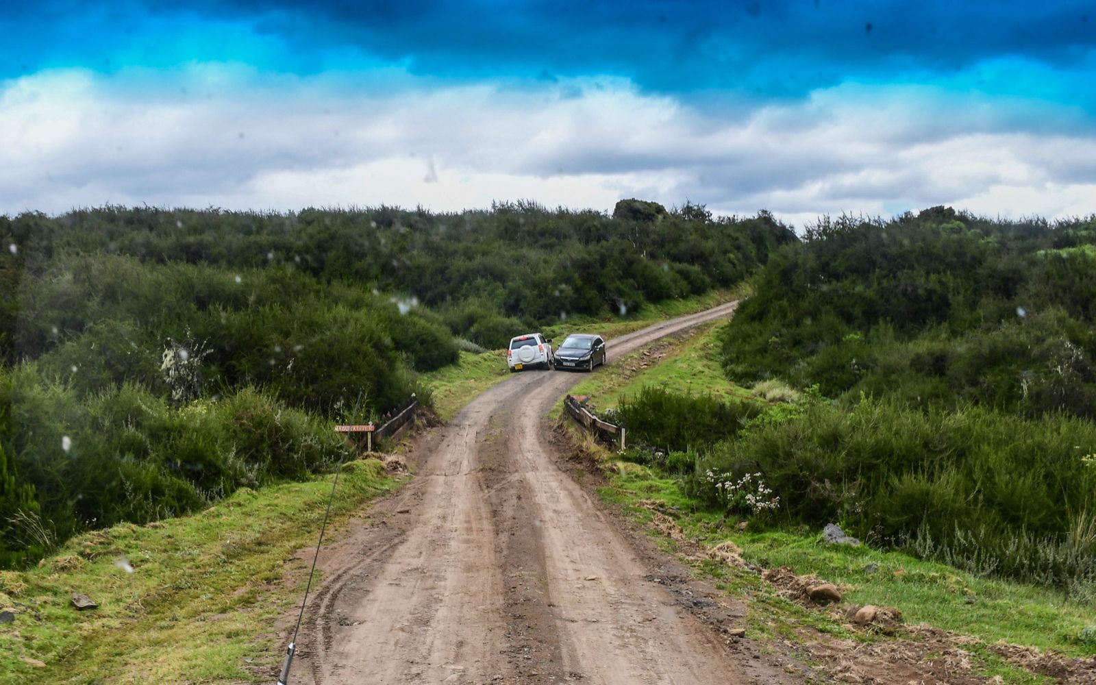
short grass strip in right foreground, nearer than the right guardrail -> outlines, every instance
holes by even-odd
[[[778,528],[738,530],[735,520],[699,509],[698,502],[682,493],[674,478],[635,464],[624,468],[613,463],[607,466],[610,482],[601,491],[603,499],[620,505],[641,524],[650,524],[653,518],[644,505],[651,500],[662,502],[675,512],[686,539],[705,547],[731,540],[750,563],[790,567],[800,575],[815,574],[842,587],[846,604],[897,607],[907,625],[926,623],[985,643],[1004,640],[1072,657],[1091,657],[1094,652],[1094,647],[1078,636],[1085,626],[1096,623],[1096,612],[1092,606],[1065,601],[1059,592],[977,578],[903,552],[827,545],[820,534]],[[733,594],[751,600],[749,628],[754,633],[794,638],[807,625],[842,637],[852,635],[845,623],[831,614],[809,612],[780,600],[754,572],[717,562],[697,563],[696,568]]]

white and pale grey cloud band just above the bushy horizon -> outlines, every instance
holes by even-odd
[[[1060,114],[1040,103],[848,84],[721,111],[618,79],[443,87],[217,65],[157,76],[66,70],[0,84],[0,130],[13,132],[0,147],[0,212],[459,210],[522,198],[607,210],[628,196],[768,208],[797,225],[937,204],[1096,210],[1096,135],[1069,133],[1073,113],[1063,133],[1040,133]],[[1038,130],[1025,130],[1034,118]]]

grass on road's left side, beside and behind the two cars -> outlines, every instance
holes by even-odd
[[[541,332],[556,340],[556,344],[562,342],[570,333],[598,333],[614,338],[646,328],[657,321],[710,309],[739,295],[740,290],[712,290],[698,297],[647,305],[638,313],[613,319],[576,317],[541,329]],[[431,389],[435,411],[444,421],[448,421],[469,400],[502,381],[507,375],[505,353],[495,350],[484,354],[461,352],[457,364],[423,374],[422,377]]]

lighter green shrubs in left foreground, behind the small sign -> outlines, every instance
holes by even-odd
[[[23,365],[0,392],[12,413],[0,446],[16,455],[20,481],[33,489],[55,541],[191,512],[347,454],[328,422],[250,389],[181,408],[130,384],[81,399]]]

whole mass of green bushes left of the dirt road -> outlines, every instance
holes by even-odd
[[[0,217],[0,564],[323,471],[332,423],[430,404],[423,374],[443,415],[486,388],[461,351],[719,298],[795,239],[764,213],[626,214]]]

